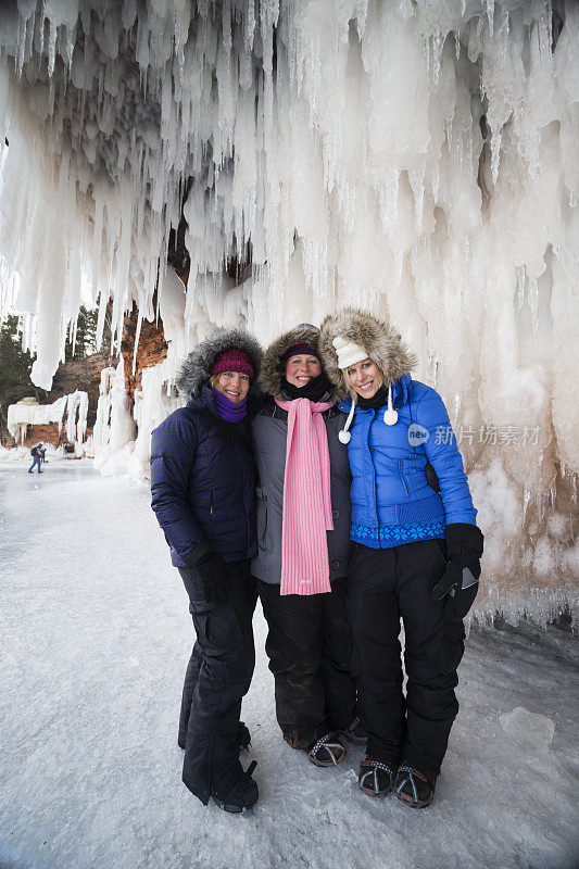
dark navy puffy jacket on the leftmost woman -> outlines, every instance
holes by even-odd
[[[253,457],[200,411],[216,416],[206,385],[152,432],[151,506],[176,567],[212,551],[226,562],[257,554]]]

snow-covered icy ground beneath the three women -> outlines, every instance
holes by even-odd
[[[473,629],[437,798],[413,811],[356,789],[362,750],[322,770],[286,746],[259,610],[243,717],[261,799],[228,816],[180,782],[192,626],[147,488],[86,461],[43,470],[0,466],[2,869],[579,865],[568,633]],[[505,730],[516,707],[554,722],[550,745],[547,728]]]

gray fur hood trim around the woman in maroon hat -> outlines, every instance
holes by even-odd
[[[254,395],[257,392],[256,385],[263,360],[262,347],[244,329],[224,329],[222,327],[201,341],[182,363],[176,381],[179,391],[186,395],[199,395],[202,385],[206,383],[211,377],[211,369],[217,353],[230,348],[244,350],[249,354],[255,375],[250,383],[249,394]]]

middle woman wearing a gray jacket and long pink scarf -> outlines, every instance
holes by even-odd
[[[257,465],[257,557],[252,575],[268,625],[284,739],[317,766],[345,757],[338,731],[354,718],[345,577],[350,467],[341,415],[317,355],[318,330],[302,325],[267,349],[252,421]]]

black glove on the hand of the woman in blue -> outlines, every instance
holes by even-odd
[[[477,596],[484,538],[476,525],[466,522],[448,525],[445,537],[449,563],[432,589],[432,597],[441,601],[448,594],[445,617],[463,619]]]

